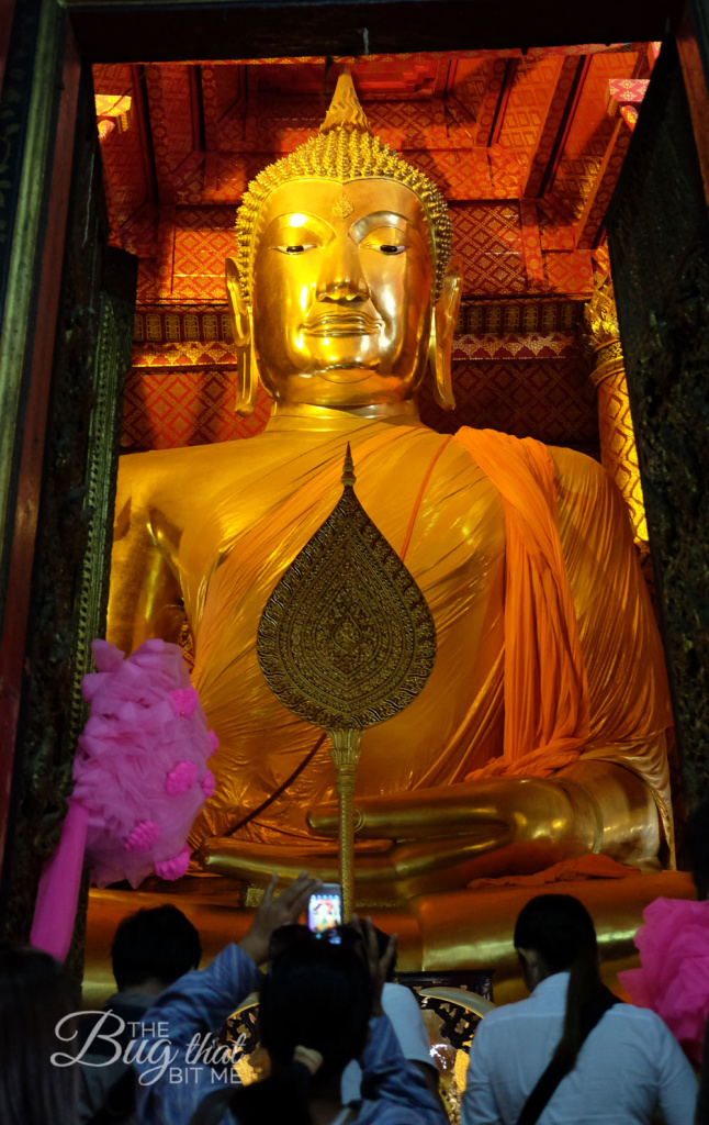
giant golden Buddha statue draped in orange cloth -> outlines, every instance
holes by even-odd
[[[207,871],[337,879],[322,736],[271,693],[263,606],[339,496],[346,443],[366,512],[430,606],[424,691],[365,731],[356,889],[401,901],[588,852],[672,847],[660,637],[624,502],[593,460],[419,420],[452,407],[461,274],[443,197],[372,137],[343,75],[320,133],[267,168],[227,261],[247,441],[121,458],[109,639],[176,640],[219,749],[192,843]]]

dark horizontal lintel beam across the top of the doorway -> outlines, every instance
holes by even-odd
[[[682,0],[65,0],[92,62],[347,56],[639,43]],[[140,34],[136,35],[136,19]],[[366,34],[365,34],[366,33]]]

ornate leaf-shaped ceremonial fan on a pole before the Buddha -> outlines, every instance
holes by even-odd
[[[343,495],[266,602],[257,654],[273,694],[329,736],[339,799],[344,918],[354,904],[354,789],[362,731],[411,703],[436,658],[436,627],[412,575],[354,490]]]

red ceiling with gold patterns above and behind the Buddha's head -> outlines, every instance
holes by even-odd
[[[372,55],[353,66],[382,140],[439,184],[469,298],[588,297],[657,47]],[[112,238],[138,302],[220,304],[246,183],[321,122],[320,58],[93,68]]]

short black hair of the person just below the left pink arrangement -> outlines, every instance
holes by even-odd
[[[124,918],[111,946],[113,976],[121,991],[151,976],[172,984],[197,969],[201,956],[197,929],[172,903]]]

